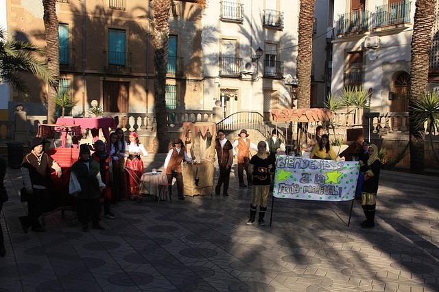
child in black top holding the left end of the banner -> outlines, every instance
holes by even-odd
[[[270,191],[271,177],[274,172],[272,160],[268,157],[267,144],[258,143],[258,152],[250,159],[249,172],[252,174],[253,194],[250,204],[250,219],[247,225],[254,223],[257,207],[259,205],[259,225],[265,226],[263,217],[267,211],[268,192]]]

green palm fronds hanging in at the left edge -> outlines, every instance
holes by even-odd
[[[8,40],[6,32],[0,29],[0,82],[10,83],[24,94],[29,93],[29,88],[20,72],[30,72],[45,82],[54,84],[55,79],[46,63],[32,56],[31,53],[44,55],[44,51],[33,44]]]

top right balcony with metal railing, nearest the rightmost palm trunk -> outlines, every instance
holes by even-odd
[[[372,14],[372,27],[405,27],[404,24],[411,23],[410,10],[411,1],[402,1],[388,5],[377,6],[377,10]],[[378,29],[380,30],[380,29]]]

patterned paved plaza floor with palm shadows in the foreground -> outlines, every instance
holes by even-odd
[[[358,200],[350,226],[351,202],[278,198],[267,226],[248,226],[251,188],[233,171],[229,197],[182,201],[174,189],[169,206],[112,205],[106,230],[83,233],[56,211],[47,232],[25,234],[21,174],[8,168],[0,291],[439,291],[438,176],[383,171],[376,226],[365,229]]]

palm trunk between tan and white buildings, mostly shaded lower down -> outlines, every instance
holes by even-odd
[[[154,5],[154,106],[156,111],[157,134],[155,147],[157,152],[167,152],[169,146],[169,134],[167,132],[166,114],[166,71],[167,53],[169,43],[169,0],[153,0]],[[158,143],[158,145],[157,145]]]

